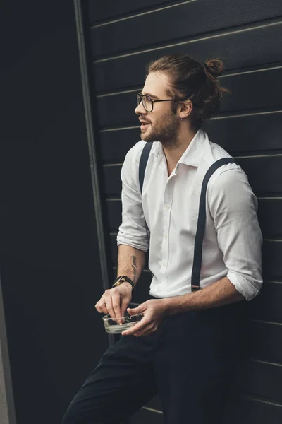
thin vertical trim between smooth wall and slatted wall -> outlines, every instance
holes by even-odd
[[[102,285],[104,290],[109,288],[109,272],[108,264],[106,261],[106,245],[104,235],[104,222],[102,216],[102,204],[99,190],[99,177],[97,169],[97,152],[95,150],[95,139],[92,122],[92,107],[90,101],[90,89],[89,89],[89,76],[87,70],[87,60],[85,54],[85,36],[84,36],[84,25],[83,25],[83,13],[82,13],[82,0],[73,0],[75,8],[75,23],[78,36],[78,52],[80,57],[80,72],[82,80],[82,93],[83,102],[85,108],[85,123],[87,129],[87,141],[88,149],[90,154],[90,165],[91,165],[91,178],[92,178],[92,192],[94,199],[95,218],[97,223],[97,237],[99,245],[99,259],[102,272]],[[109,344],[114,343],[114,336],[108,335]]]

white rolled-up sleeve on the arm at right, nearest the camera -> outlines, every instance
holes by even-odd
[[[247,300],[262,287],[262,232],[257,219],[257,198],[238,167],[218,175],[209,194],[219,248],[227,278]]]

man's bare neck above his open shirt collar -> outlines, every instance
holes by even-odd
[[[171,172],[176,167],[178,160],[190,145],[192,139],[195,137],[195,134],[196,131],[192,130],[190,126],[185,125],[183,122],[183,125],[180,126],[176,143],[169,147],[163,146],[169,174],[171,174]]]

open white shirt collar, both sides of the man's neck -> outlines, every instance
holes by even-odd
[[[185,165],[198,167],[204,153],[204,145],[208,140],[207,134],[202,129],[199,129],[192,138],[188,148],[186,148],[185,152],[178,160],[178,163],[185,163]],[[156,158],[163,157],[164,151],[159,141],[153,143],[152,153],[154,153]]]

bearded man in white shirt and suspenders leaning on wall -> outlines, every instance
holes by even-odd
[[[207,183],[204,238],[195,254],[204,177],[217,160],[231,158],[201,129],[219,106],[221,72],[221,61],[199,64],[185,54],[149,64],[135,110],[142,141],[121,171],[117,240],[123,278],[96,305],[111,317],[126,310],[144,316],[102,356],[64,424],[120,423],[157,392],[166,424],[219,423],[240,354],[245,300],[262,285],[257,199],[236,163],[219,167]],[[152,149],[140,185],[146,142]],[[148,247],[150,296],[130,309]],[[198,259],[199,287],[191,282]]]

